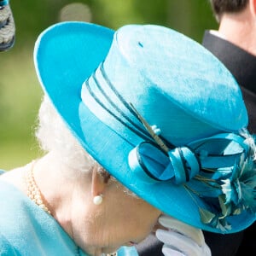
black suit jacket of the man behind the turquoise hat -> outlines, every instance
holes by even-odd
[[[203,38],[203,45],[224,63],[241,85],[249,116],[248,130],[256,133],[256,56],[208,31]],[[256,255],[255,223],[247,230],[235,234],[220,235],[204,231],[204,236],[212,256],[244,256],[245,252]],[[151,235],[137,245],[137,250],[140,256],[161,256],[161,247],[162,243]]]

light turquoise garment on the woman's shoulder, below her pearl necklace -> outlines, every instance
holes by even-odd
[[[81,250],[77,253],[77,246],[55,218],[3,181],[0,181],[0,208],[1,256],[87,255]],[[118,255],[137,256],[137,251],[135,247],[121,247]]]

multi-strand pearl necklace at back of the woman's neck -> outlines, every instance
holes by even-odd
[[[35,161],[32,161],[31,168],[28,169],[28,171],[26,172],[26,186],[27,186],[26,195],[28,195],[29,198],[38,205],[38,207],[43,209],[44,212],[51,214],[51,212],[49,211],[49,208],[46,207],[44,204],[44,201],[42,199],[42,193],[35,181],[34,165],[35,165]]]

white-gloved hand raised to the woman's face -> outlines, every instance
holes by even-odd
[[[160,216],[159,223],[166,230],[156,230],[155,236],[164,243],[165,256],[212,255],[201,230],[166,215]]]

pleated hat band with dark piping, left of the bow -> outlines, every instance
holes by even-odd
[[[125,101],[108,79],[103,63],[84,81],[81,98],[98,119],[133,146],[143,141],[154,141],[138,119],[131,103]],[[169,148],[175,148],[172,143],[161,138]]]

